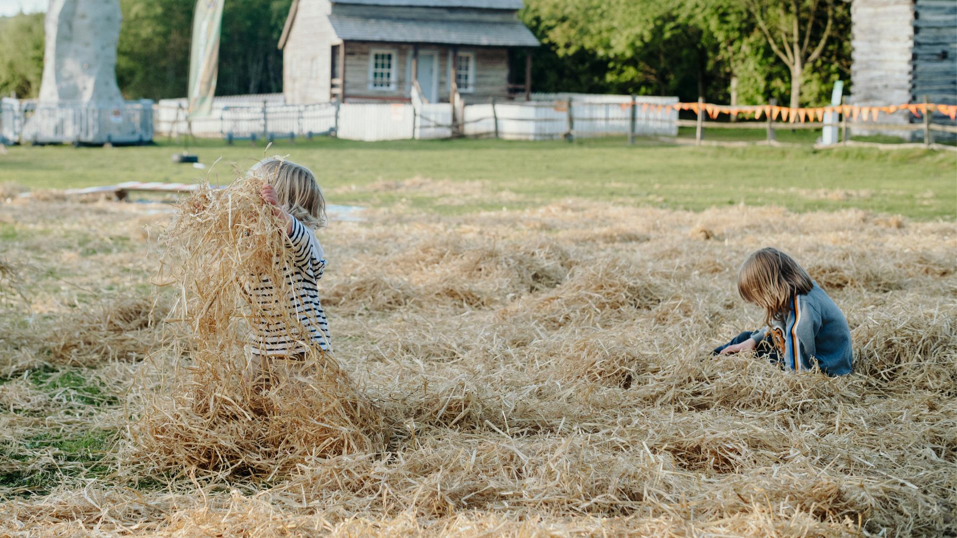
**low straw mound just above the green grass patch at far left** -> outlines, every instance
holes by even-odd
[[[171,333],[158,327],[168,311],[165,301],[148,297],[104,300],[59,321],[47,348],[59,364],[91,367],[114,360],[142,361],[153,348],[168,344]]]

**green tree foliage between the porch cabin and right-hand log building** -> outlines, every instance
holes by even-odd
[[[542,40],[535,87],[677,95],[682,101],[765,103],[790,98],[790,70],[758,31],[746,0],[527,0],[523,21]],[[802,102],[830,101],[850,73],[850,8],[835,4],[831,38],[805,67]],[[823,32],[812,27],[812,43]],[[582,83],[582,81],[591,81]]]

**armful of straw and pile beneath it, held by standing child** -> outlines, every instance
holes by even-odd
[[[135,428],[145,458],[161,469],[271,477],[307,458],[381,447],[377,410],[331,353],[260,362],[244,348],[253,318],[302,326],[285,300],[293,293],[283,278],[293,251],[259,197],[267,179],[195,191],[163,237],[160,277],[179,288],[173,316],[195,350],[168,387],[145,398]],[[262,279],[277,288],[266,306],[247,299]]]

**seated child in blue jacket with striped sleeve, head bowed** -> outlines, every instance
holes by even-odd
[[[851,373],[851,329],[844,313],[793,258],[764,248],[738,271],[738,293],[765,309],[765,325],[745,331],[712,354],[755,350],[788,370]]]

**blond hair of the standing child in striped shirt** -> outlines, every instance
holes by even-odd
[[[325,197],[312,170],[276,156],[256,163],[249,175],[268,181],[276,189],[279,205],[302,224],[325,227]]]

